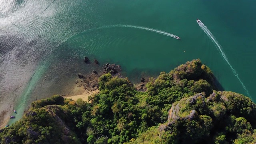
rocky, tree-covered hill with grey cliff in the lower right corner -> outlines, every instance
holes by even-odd
[[[255,104],[234,92],[196,94],[172,104],[165,132],[179,144],[255,142]],[[222,140],[219,140],[223,137]]]

